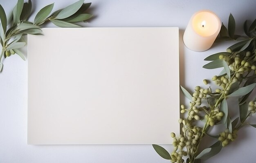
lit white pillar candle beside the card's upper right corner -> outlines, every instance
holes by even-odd
[[[208,50],[220,32],[218,16],[208,10],[192,15],[183,35],[183,42],[192,51]]]

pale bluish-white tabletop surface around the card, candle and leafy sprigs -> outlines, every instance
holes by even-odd
[[[76,0],[33,0],[33,9],[38,12],[54,1],[54,10],[57,10]],[[226,25],[229,13],[232,13],[237,22],[237,33],[243,33],[243,22],[246,19],[252,21],[256,18],[255,0],[92,0],[91,2],[90,13],[94,14],[94,18],[84,26],[177,26],[180,28],[180,38],[191,15],[201,9],[215,12]],[[16,0],[0,0],[0,4],[9,13]],[[36,12],[31,16],[31,20],[34,19]],[[207,62],[203,59],[210,54],[225,51],[230,44],[232,42],[217,43],[210,50],[199,53],[184,47],[180,39],[180,84],[192,90],[194,86],[203,84],[202,79],[210,79],[218,74],[220,70],[204,70],[202,66]],[[254,128],[243,128],[238,132],[238,139],[235,142],[222,149],[217,156],[204,162],[255,162],[255,134]],[[171,150],[168,146],[166,148]],[[168,163],[169,161],[158,156],[151,145],[27,145],[27,62],[15,55],[4,61],[4,70],[0,75],[0,162]]]

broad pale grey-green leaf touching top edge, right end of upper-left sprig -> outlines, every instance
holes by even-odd
[[[73,15],[74,13],[76,13],[76,11],[79,10],[83,2],[84,0],[79,0],[74,4],[71,4],[70,6],[65,7],[63,10],[61,10],[60,13],[58,13],[58,15],[56,16],[56,19],[64,19]]]

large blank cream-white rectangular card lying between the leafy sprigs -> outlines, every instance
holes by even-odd
[[[177,27],[45,28],[28,36],[28,144],[171,144]]]

